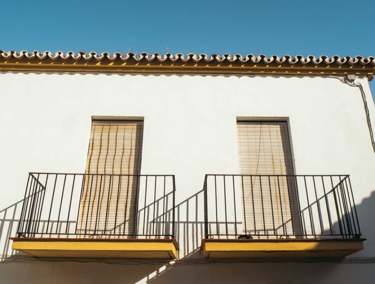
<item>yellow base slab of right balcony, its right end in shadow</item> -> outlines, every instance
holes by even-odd
[[[210,259],[343,258],[363,250],[365,239],[203,239]]]

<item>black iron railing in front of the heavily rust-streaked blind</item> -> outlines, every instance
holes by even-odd
[[[174,175],[29,173],[18,237],[174,238]]]

